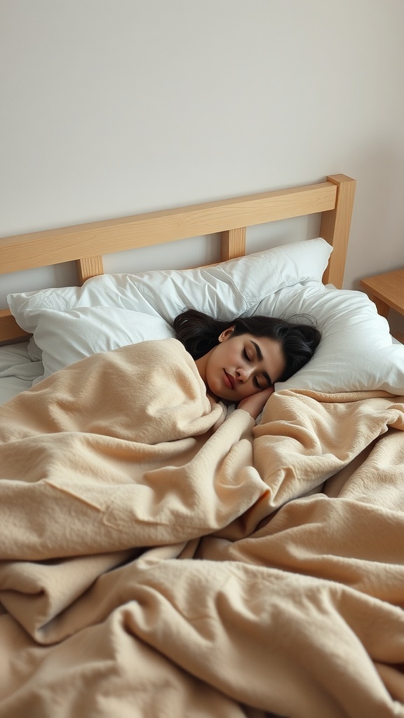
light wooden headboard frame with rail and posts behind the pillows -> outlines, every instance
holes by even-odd
[[[333,246],[323,281],[340,289],[355,185],[334,174],[315,185],[0,238],[0,274],[75,261],[81,285],[104,274],[104,254],[216,233],[226,261],[244,256],[247,227],[321,213],[320,236]],[[9,309],[1,309],[0,342],[26,338]]]

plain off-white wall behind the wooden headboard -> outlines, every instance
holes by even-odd
[[[0,236],[344,172],[357,179],[344,286],[404,265],[403,0],[0,0],[0,11]],[[45,281],[70,283],[69,267],[52,272]]]

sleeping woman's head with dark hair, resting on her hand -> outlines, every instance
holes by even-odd
[[[174,330],[195,360],[208,396],[237,404],[253,419],[274,383],[302,368],[321,340],[321,332],[308,323],[253,316],[229,326],[194,309],[176,317]]]

